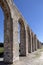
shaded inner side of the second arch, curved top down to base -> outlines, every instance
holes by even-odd
[[[19,18],[18,23],[20,25],[20,56],[26,56],[25,25],[22,18]]]

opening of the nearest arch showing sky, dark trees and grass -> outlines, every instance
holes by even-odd
[[[0,57],[4,55],[4,12],[0,7]]]

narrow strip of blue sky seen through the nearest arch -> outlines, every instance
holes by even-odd
[[[0,7],[0,42],[4,42],[4,13]]]

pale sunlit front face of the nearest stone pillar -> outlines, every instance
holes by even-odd
[[[13,62],[19,60],[18,20],[13,20]]]

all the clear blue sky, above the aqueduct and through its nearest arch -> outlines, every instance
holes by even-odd
[[[14,0],[28,25],[43,42],[43,0]],[[4,15],[0,9],[0,42],[4,41]]]

